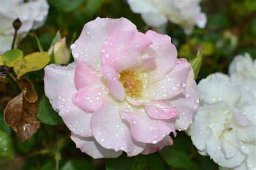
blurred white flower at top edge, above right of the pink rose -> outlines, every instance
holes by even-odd
[[[194,25],[205,28],[207,18],[201,12],[200,0],[127,0],[134,13],[140,13],[144,22],[159,27],[171,21],[181,25],[186,34],[191,34]]]

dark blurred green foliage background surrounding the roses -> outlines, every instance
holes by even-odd
[[[137,25],[139,31],[149,30],[138,14],[134,14],[124,0],[49,0],[49,15],[44,26],[31,31],[35,34],[42,48],[47,51],[58,30],[71,44],[74,33],[79,33],[83,25],[96,17],[125,17]],[[198,74],[199,81],[214,72],[227,73],[228,65],[235,55],[249,52],[256,58],[256,1],[251,0],[204,0],[201,2],[203,11],[207,14],[205,29],[196,28],[192,35],[186,36],[183,29],[172,23],[166,28],[166,34],[171,36],[177,46],[178,57],[191,59],[197,55],[201,45],[205,46],[203,62]],[[76,37],[78,38],[78,37]],[[26,36],[19,49],[28,55],[38,51],[37,40]],[[39,98],[44,95],[43,70],[26,73]],[[18,94],[18,87],[10,78],[5,79],[9,90],[1,93],[1,99],[11,99]],[[26,143],[21,143],[15,133],[4,124],[3,108],[0,106],[0,169],[218,169],[214,162],[198,154],[192,145],[190,137],[179,132],[173,137],[173,146],[166,146],[159,153],[138,155],[127,158],[125,154],[117,159],[92,159],[80,152],[69,138],[70,131],[62,122],[46,120],[38,132]],[[45,108],[44,108],[45,107]],[[48,107],[48,108],[46,108]],[[55,114],[45,98],[40,107],[48,114]],[[40,112],[39,112],[40,114]],[[58,118],[57,118],[58,119]],[[50,126],[55,124],[60,126]],[[8,147],[6,149],[5,147]],[[10,160],[6,158],[14,157]],[[2,160],[4,159],[5,160]],[[58,160],[58,164],[56,161]],[[10,162],[16,162],[10,164]]]

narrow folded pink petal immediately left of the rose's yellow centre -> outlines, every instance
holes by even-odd
[[[113,97],[123,101],[125,99],[125,90],[122,83],[118,80],[118,73],[112,67],[104,65],[102,67],[102,75],[109,80],[107,87]]]

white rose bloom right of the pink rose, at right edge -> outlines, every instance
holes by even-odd
[[[237,56],[230,65],[230,77],[214,73],[198,84],[200,106],[190,127],[191,139],[199,153],[210,155],[220,169],[256,169],[252,69],[250,55]]]

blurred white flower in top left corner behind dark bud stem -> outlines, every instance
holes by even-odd
[[[17,42],[25,37],[31,29],[42,26],[48,15],[49,5],[46,0],[0,0],[0,54],[11,49],[14,38],[14,28],[12,22],[19,18],[22,22],[18,30]]]

